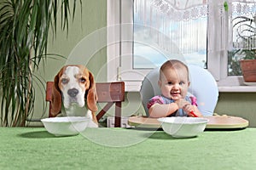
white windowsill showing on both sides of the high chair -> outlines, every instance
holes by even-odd
[[[125,92],[139,92],[141,82],[125,82]],[[237,86],[223,86],[218,85],[218,92],[220,93],[256,93],[256,86],[237,85]]]

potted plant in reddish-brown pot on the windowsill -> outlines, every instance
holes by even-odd
[[[233,27],[236,27],[238,46],[234,54],[241,56],[244,82],[256,82],[256,15],[237,16],[233,23]]]

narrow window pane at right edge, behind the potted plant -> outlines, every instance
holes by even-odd
[[[256,3],[233,2],[232,5],[235,12],[230,21],[232,26],[230,42],[232,43],[229,49],[228,74],[237,76],[241,75],[239,60],[244,57],[249,59],[252,56],[252,50],[256,49]]]

